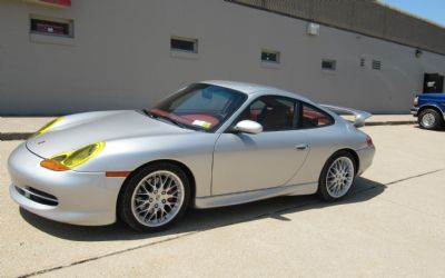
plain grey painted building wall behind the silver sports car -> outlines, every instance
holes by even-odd
[[[32,41],[42,36],[30,36],[30,14],[73,19],[73,40]],[[407,113],[424,72],[445,73],[445,56],[416,58],[411,47],[324,26],[313,37],[306,29],[306,21],[221,0],[73,0],[66,9],[0,0],[0,115],[145,108],[207,79]],[[172,54],[171,36],[198,39],[198,54]],[[261,49],[280,51],[280,66],[261,66]],[[323,58],[336,60],[337,70],[323,71]],[[382,70],[370,69],[372,59]]]

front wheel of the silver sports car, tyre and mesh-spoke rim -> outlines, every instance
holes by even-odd
[[[119,195],[118,215],[137,231],[159,231],[184,216],[189,200],[190,186],[184,170],[172,163],[154,163],[126,181]]]

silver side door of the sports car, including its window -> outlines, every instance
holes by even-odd
[[[297,101],[265,96],[234,122],[249,119],[261,123],[258,135],[225,132],[215,146],[212,195],[225,195],[285,185],[303,166],[309,146],[297,130]]]

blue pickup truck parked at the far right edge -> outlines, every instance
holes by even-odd
[[[424,129],[439,129],[445,122],[445,93],[423,93],[416,96],[411,113],[417,117]]]

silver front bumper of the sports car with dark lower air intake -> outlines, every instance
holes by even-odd
[[[40,166],[42,159],[24,142],[9,157],[9,192],[20,207],[73,225],[116,221],[116,203],[125,178],[107,178],[105,172],[51,171]]]

